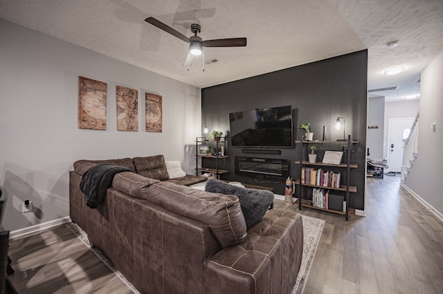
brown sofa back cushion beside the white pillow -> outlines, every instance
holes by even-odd
[[[132,161],[134,161],[136,172],[143,175],[143,177],[150,177],[151,179],[159,179],[161,181],[169,179],[163,155],[134,157]]]

